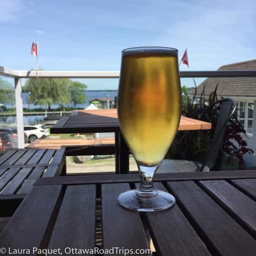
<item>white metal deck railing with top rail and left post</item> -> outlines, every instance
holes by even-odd
[[[38,71],[38,78],[119,78],[119,71]],[[37,78],[36,71],[14,70],[0,66],[0,75],[15,79],[18,147],[24,148],[21,78]],[[180,71],[181,78],[252,77],[256,70]]]

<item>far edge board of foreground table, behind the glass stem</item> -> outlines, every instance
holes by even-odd
[[[256,178],[256,170],[237,170],[221,172],[189,172],[189,173],[157,173],[154,181],[188,181],[188,180],[223,180]],[[62,176],[38,178],[34,185],[69,185],[69,184],[97,184],[138,182],[139,175],[135,174],[96,174],[79,176]]]

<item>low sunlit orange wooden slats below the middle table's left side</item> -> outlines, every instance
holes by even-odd
[[[37,139],[27,148],[52,148],[59,149],[61,146],[102,146],[115,143],[115,138],[91,138],[91,139]]]

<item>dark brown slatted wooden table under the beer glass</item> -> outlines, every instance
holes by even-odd
[[[135,250],[151,238],[154,255],[255,255],[255,170],[156,174],[155,187],[176,204],[141,214],[117,203],[138,181],[138,174],[39,178],[0,233],[0,248]]]

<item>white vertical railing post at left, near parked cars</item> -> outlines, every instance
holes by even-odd
[[[21,79],[14,78],[14,80],[15,80],[16,119],[17,119],[17,131],[18,131],[18,148],[25,148]]]

